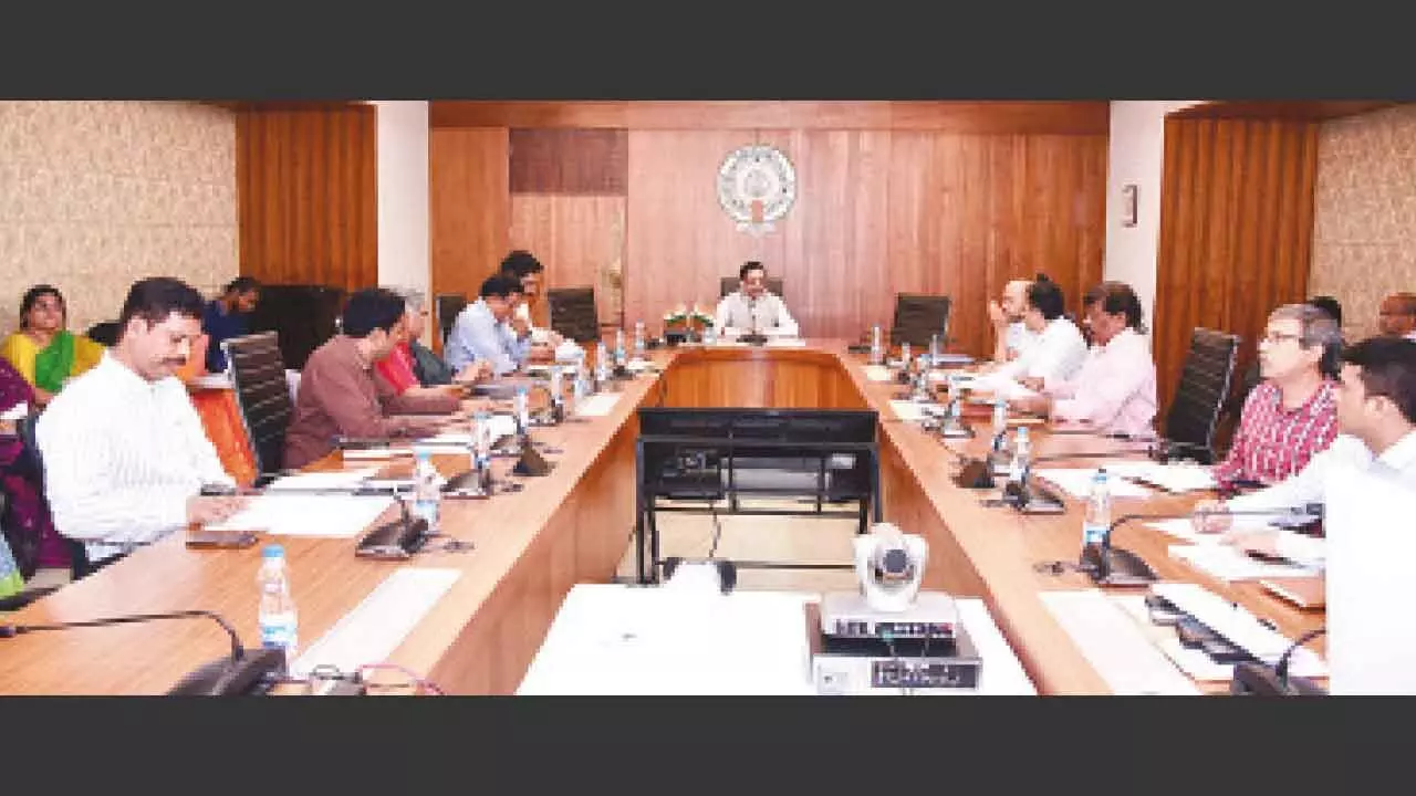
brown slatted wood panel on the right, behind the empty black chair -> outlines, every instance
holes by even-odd
[[[1154,351],[1164,418],[1194,327],[1238,334],[1236,373],[1311,261],[1315,122],[1167,119]]]

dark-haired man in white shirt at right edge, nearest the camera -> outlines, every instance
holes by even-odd
[[[1335,470],[1381,473],[1416,486],[1416,341],[1372,337],[1342,353],[1337,422],[1342,433],[1296,474],[1226,503],[1197,504],[1197,528],[1228,531],[1225,541],[1242,550],[1321,567],[1327,558],[1325,540],[1256,528],[1264,523],[1263,517],[1242,517],[1243,521],[1236,523],[1225,508],[1253,511],[1325,504],[1328,480]]]

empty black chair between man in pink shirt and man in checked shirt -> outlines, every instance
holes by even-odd
[[[1202,465],[1215,460],[1215,426],[1229,398],[1239,337],[1212,329],[1195,329],[1189,353],[1165,416],[1165,438],[1172,450]]]

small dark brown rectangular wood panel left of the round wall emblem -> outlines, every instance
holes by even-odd
[[[511,130],[511,194],[624,195],[624,130]]]

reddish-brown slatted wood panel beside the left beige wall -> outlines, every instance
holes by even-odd
[[[241,273],[270,285],[378,282],[370,105],[236,115]]]

